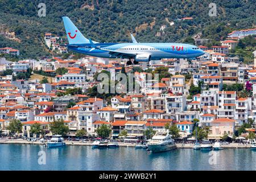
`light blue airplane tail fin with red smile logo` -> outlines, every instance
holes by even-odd
[[[89,39],[86,39],[84,35],[79,31],[75,24],[67,17],[63,16],[63,23],[68,37],[69,44],[86,44],[90,43]]]

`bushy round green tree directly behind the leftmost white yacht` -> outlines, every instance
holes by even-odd
[[[65,135],[68,133],[68,126],[65,126],[63,119],[57,119],[49,124],[50,130],[54,135]]]

